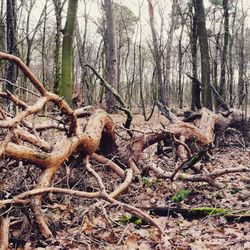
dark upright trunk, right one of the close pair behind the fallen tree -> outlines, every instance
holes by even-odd
[[[200,54],[201,54],[201,79],[202,79],[202,97],[203,105],[212,109],[212,96],[210,89],[210,56],[208,48],[206,16],[203,0],[194,0],[196,18],[197,18],[197,34],[199,36]]]

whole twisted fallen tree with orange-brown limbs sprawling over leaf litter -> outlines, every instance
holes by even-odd
[[[0,208],[1,210],[7,210],[10,206],[30,205],[39,230],[45,238],[53,236],[41,209],[45,193],[61,193],[80,198],[104,200],[156,226],[163,234],[163,229],[148,213],[120,202],[116,197],[128,189],[134,174],[141,174],[143,171],[138,167],[142,152],[147,147],[164,139],[172,141],[177,148],[177,156],[182,162],[174,172],[164,172],[157,166],[150,166],[150,170],[154,171],[156,176],[160,178],[167,178],[172,181],[175,179],[193,182],[202,181],[220,187],[220,183],[215,182],[217,177],[228,173],[250,171],[249,167],[240,167],[206,174],[191,175],[180,172],[183,168],[192,168],[203,155],[200,152],[207,152],[207,148],[214,140],[215,126],[219,126],[223,130],[232,122],[235,122],[235,117],[238,116],[230,114],[229,117],[224,117],[201,109],[200,115],[196,116],[196,120],[193,121],[194,124],[181,121],[173,114],[170,118],[171,124],[159,131],[133,130],[129,129],[127,124],[126,128],[123,128],[126,140],[123,140],[122,145],[117,145],[115,124],[105,111],[87,107],[73,110],[64,99],[47,91],[19,58],[0,52],[0,59],[17,64],[34,85],[39,95],[33,105],[27,105],[8,91],[0,93],[3,99],[20,109],[17,114],[13,115],[0,108],[0,128],[2,131],[0,156],[15,160],[18,163],[31,164],[41,170],[34,188],[2,199]],[[43,113],[44,107],[49,103],[57,111],[50,115],[52,116],[50,122],[47,121],[48,119],[41,122],[38,115]],[[122,102],[122,105],[124,109],[125,103]],[[131,114],[130,112],[127,113]],[[169,115],[168,112],[168,118]],[[45,136],[45,132],[49,130],[61,131],[54,134],[54,137],[58,136],[54,143]],[[41,132],[44,132],[44,134],[39,134]],[[190,149],[190,142],[196,145],[196,151]],[[115,155],[119,158],[121,164],[118,165],[108,159],[107,155]],[[74,157],[77,158],[76,164],[84,166],[95,178],[98,183],[98,191],[86,192],[53,187],[55,175],[63,164],[70,162]],[[118,178],[122,178],[124,181],[115,190],[108,192],[102,178],[92,167],[90,160],[107,165],[117,174]],[[7,249],[11,223],[7,216],[8,213],[3,212],[3,214],[5,216],[2,216],[0,239],[1,245],[4,246],[3,249]]]

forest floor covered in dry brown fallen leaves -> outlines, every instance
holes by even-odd
[[[116,115],[113,119],[121,124],[124,117]],[[156,129],[161,127],[162,120],[165,121],[165,118],[156,115],[145,123],[142,116],[136,115],[133,127],[141,130]],[[215,169],[246,166],[249,162],[250,149],[223,147],[213,150],[210,161],[197,163],[196,166],[202,171],[210,172]],[[154,164],[171,171],[175,168],[176,162],[172,153],[158,156],[154,145],[143,152],[140,164]],[[121,183],[121,179],[104,165],[95,164],[95,169],[108,190],[113,190]],[[32,170],[33,168],[29,171]],[[32,176],[35,179],[35,173],[32,173]],[[118,199],[144,211],[153,207],[249,210],[249,174],[224,175],[219,177],[218,181],[224,184],[224,188],[218,189],[203,182],[171,182],[157,179],[149,173],[145,177],[135,178],[127,192]],[[81,166],[72,169],[65,166],[57,174],[54,183],[58,187],[87,191],[95,190],[97,187],[94,178]],[[4,183],[1,185],[3,187]],[[186,195],[176,199],[178,194],[185,191]],[[176,216],[152,214],[165,231],[164,238],[160,239],[155,227],[131,217],[122,208],[109,206],[103,201],[60,194],[49,195],[45,198],[43,212],[48,218],[55,238],[44,241],[37,231],[31,229],[32,218],[27,218],[23,228],[12,228],[10,247],[14,249],[18,245],[23,245],[19,249],[250,249],[250,223],[229,222],[223,216],[207,215],[200,219],[188,219],[178,213]],[[28,211],[22,208],[18,213],[27,215]]]

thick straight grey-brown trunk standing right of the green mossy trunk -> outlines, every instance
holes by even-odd
[[[104,0],[105,15],[107,20],[107,81],[117,87],[117,46],[115,32],[115,18],[112,0]],[[106,92],[107,112],[112,113],[115,110],[115,98],[109,91]]]

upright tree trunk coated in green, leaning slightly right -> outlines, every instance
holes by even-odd
[[[62,82],[59,93],[72,106],[72,54],[73,54],[73,34],[77,16],[78,0],[69,0],[66,23],[63,30],[62,43]]]

